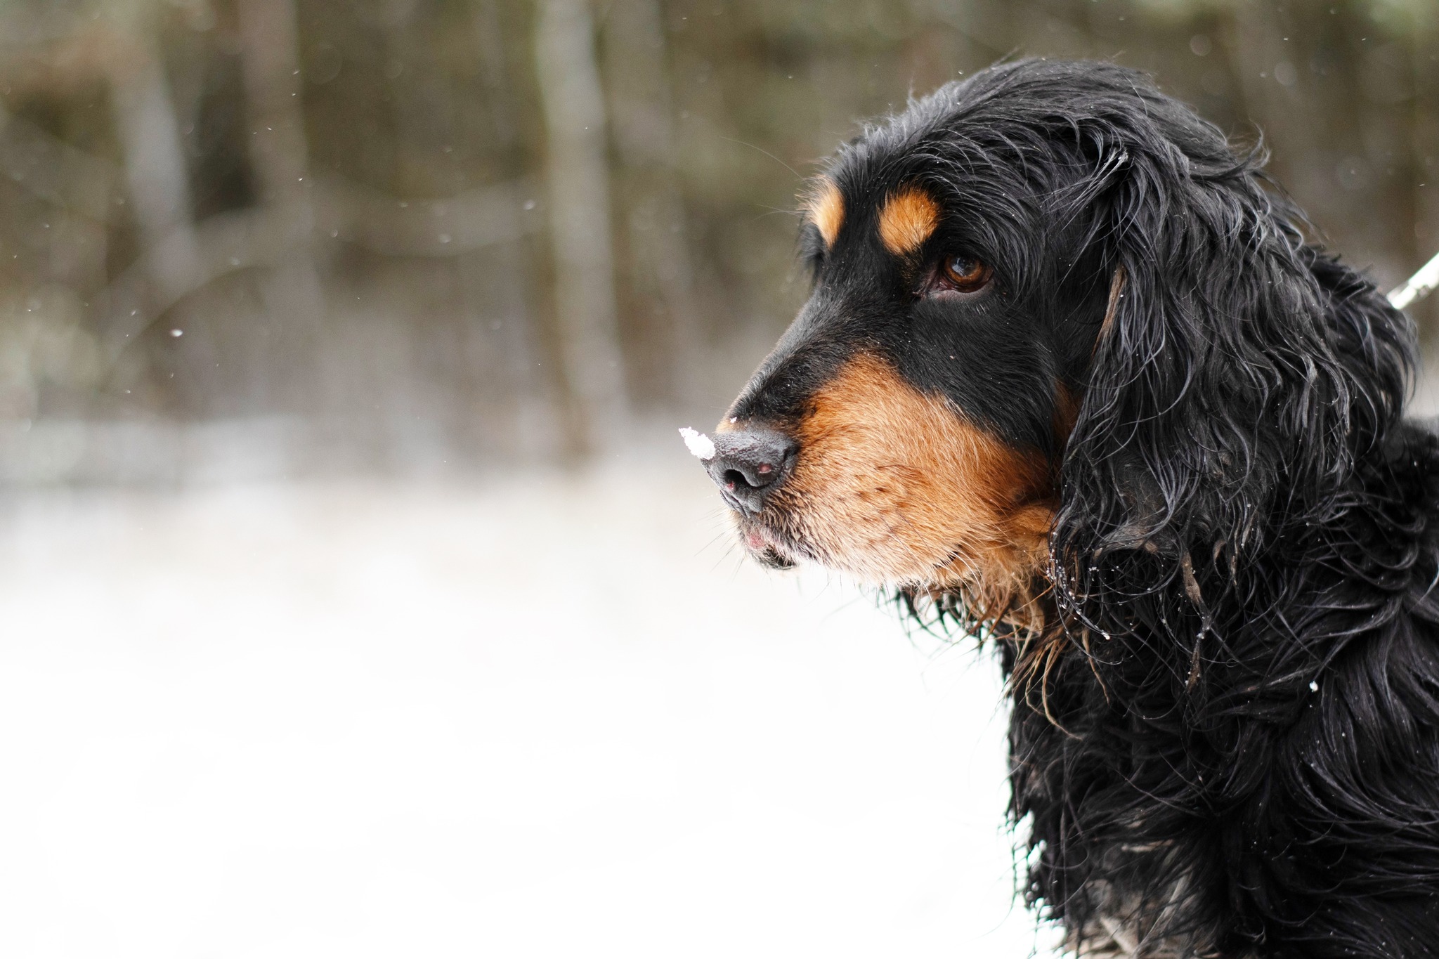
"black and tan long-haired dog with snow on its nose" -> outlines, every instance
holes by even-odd
[[[1069,949],[1439,955],[1415,332],[1258,162],[1101,63],[868,128],[708,467],[761,562],[997,644],[1026,894]]]

